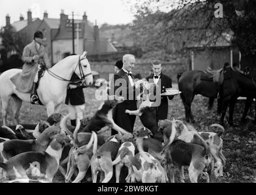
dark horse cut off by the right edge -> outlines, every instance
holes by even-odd
[[[252,99],[256,97],[256,80],[245,74],[233,71],[232,68],[224,68],[224,82],[220,86],[219,104],[221,105],[220,124],[224,124],[227,105],[229,104],[229,124],[233,125],[233,110],[238,97],[247,97],[246,107],[242,120],[251,105]],[[256,114],[255,114],[256,121]]]

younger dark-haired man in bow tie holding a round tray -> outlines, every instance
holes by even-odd
[[[154,82],[160,85],[161,83],[161,93],[166,92],[166,88],[172,88],[172,80],[168,76],[162,73],[162,63],[156,60],[152,63],[153,74],[146,77],[149,82]],[[174,96],[162,96],[161,104],[157,107],[157,121],[167,119],[168,116],[168,99],[172,100]]]

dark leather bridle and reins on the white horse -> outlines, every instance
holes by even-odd
[[[68,79],[65,79],[65,78],[63,78],[63,77],[60,77],[59,75],[57,75],[57,74],[55,74],[55,73],[52,73],[52,71],[50,71],[49,69],[47,69],[47,71],[48,71],[48,73],[49,73],[51,76],[55,77],[56,79],[70,82],[72,85],[81,86],[81,85],[84,84],[85,78],[88,77],[88,76],[90,76],[90,75],[92,75],[92,73],[84,74],[81,61],[82,61],[82,60],[85,60],[85,59],[86,59],[86,58],[80,59],[80,55],[79,55],[79,60],[78,60],[78,62],[77,62],[76,68],[74,69],[74,73],[75,73],[77,67],[79,68],[79,72],[80,72],[81,79],[68,80]],[[85,68],[86,68],[86,66],[85,66]]]

